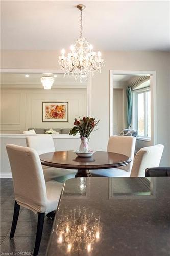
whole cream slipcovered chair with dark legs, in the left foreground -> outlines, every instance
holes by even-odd
[[[57,181],[45,182],[36,150],[13,144],[8,144],[6,148],[11,165],[15,196],[10,239],[15,234],[20,205],[38,213],[33,254],[36,256],[41,242],[45,214],[57,209],[63,185]]]

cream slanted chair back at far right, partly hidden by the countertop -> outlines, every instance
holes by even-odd
[[[131,177],[145,177],[145,169],[159,167],[163,148],[161,144],[141,148],[135,156]]]

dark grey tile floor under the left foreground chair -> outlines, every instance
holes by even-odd
[[[1,184],[1,255],[32,255],[38,216],[20,207],[15,237],[9,239],[13,218],[14,194],[12,179],[0,179]],[[45,255],[53,221],[45,217],[39,256]],[[28,254],[26,254],[26,252]],[[11,253],[11,254],[10,254]],[[14,254],[16,253],[16,254]],[[24,253],[24,254],[21,254]]]

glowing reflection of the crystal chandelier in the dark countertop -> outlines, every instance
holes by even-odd
[[[86,214],[86,210],[74,209],[63,216],[57,226],[57,243],[64,252],[92,250],[92,245],[100,240],[102,228],[100,217]]]

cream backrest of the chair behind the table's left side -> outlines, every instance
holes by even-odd
[[[55,151],[54,141],[50,134],[26,137],[28,147],[34,148],[38,155]]]

